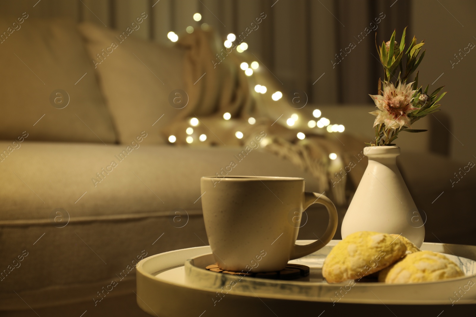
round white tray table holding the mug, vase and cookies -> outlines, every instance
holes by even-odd
[[[214,263],[208,246],[157,254],[137,266],[137,302],[150,315],[160,317],[228,317],[250,312],[249,316],[289,316],[297,312],[318,316],[323,310],[343,314],[356,307],[384,316],[390,313],[388,309],[397,314],[405,307],[415,313],[425,307],[421,312],[428,316],[433,314],[429,307],[436,309],[435,316],[442,310],[475,311],[473,305],[461,305],[476,304],[476,285],[468,286],[476,283],[475,246],[424,243],[421,248],[448,255],[465,271],[464,278],[418,284],[357,283],[350,287],[347,283],[327,284],[320,275],[324,258],[337,242],[332,240],[327,247],[290,261],[310,267],[309,281],[241,278],[208,271],[205,266]]]

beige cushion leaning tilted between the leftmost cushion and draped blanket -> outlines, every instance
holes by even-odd
[[[125,32],[126,36],[125,30],[111,31],[89,23],[80,25],[79,30],[96,67],[119,142],[130,143],[146,129],[151,132],[146,144],[164,143],[159,131],[180,111],[170,106],[169,94],[184,89],[184,53],[134,38],[133,30],[130,35]],[[111,48],[112,43],[117,47]]]

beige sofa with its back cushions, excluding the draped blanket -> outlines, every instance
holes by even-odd
[[[172,112],[169,92],[183,85],[176,71],[180,51],[128,38],[95,69],[88,54],[107,41],[103,35],[88,28],[79,33],[65,22],[29,22],[34,27],[14,34],[0,51],[11,60],[4,69],[11,81],[0,86],[0,151],[6,151],[0,155],[1,314],[146,316],[135,305],[135,261],[208,243],[199,178],[217,173],[240,149],[164,144],[158,126],[171,115],[154,122]],[[162,85],[157,76],[168,80]],[[62,109],[50,99],[56,89],[69,95],[60,96],[69,100]],[[348,133],[368,136],[360,128],[368,124],[356,122],[371,122],[365,112],[372,106],[319,108]],[[419,136],[423,146],[402,142],[400,161],[428,216],[427,240],[476,243],[469,235],[475,178],[448,188],[446,174],[460,166],[429,152],[432,135]],[[318,188],[310,173],[259,150],[232,173],[304,177],[307,191]],[[345,210],[339,206],[340,216]],[[325,214],[311,211],[301,239],[324,231]],[[113,279],[118,286],[99,301],[98,292]]]

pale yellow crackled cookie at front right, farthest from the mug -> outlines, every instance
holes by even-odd
[[[464,276],[455,262],[433,251],[407,254],[401,261],[382,271],[379,281],[387,284],[431,282]]]

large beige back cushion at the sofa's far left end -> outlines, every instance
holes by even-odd
[[[0,19],[0,30],[6,31],[0,44],[1,138],[17,139],[26,131],[28,140],[115,142],[109,113],[75,25],[28,17],[15,24],[20,29],[13,30],[13,21]],[[63,109],[50,103],[56,89],[69,95]],[[59,102],[61,97],[55,97]],[[68,97],[63,98],[67,102]]]

